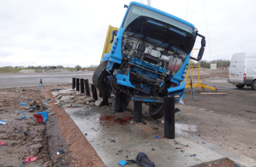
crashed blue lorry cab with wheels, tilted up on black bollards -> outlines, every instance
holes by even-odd
[[[122,104],[145,102],[154,119],[164,115],[164,96],[183,99],[189,59],[199,61],[205,37],[191,23],[151,6],[131,2],[118,31],[112,32],[110,53],[104,54],[93,74],[101,91],[122,93]],[[114,36],[116,36],[114,38]],[[201,37],[197,58],[191,50]]]

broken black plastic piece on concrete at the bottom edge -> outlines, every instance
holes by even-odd
[[[151,162],[147,155],[143,152],[139,152],[135,160],[126,160],[129,164],[137,163],[143,167],[156,167],[154,162]]]

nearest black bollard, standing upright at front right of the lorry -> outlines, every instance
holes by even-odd
[[[175,139],[175,98],[164,97],[164,137]]]

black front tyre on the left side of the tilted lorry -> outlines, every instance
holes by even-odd
[[[107,84],[106,76],[109,75],[106,71],[108,61],[102,62],[93,73],[93,84],[101,91],[108,91],[109,85]]]

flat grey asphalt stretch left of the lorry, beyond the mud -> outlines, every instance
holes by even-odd
[[[94,71],[0,74],[0,88],[38,86],[40,79],[42,79],[44,85],[68,84],[72,83],[73,77],[89,79],[89,83],[92,83],[93,72]]]

